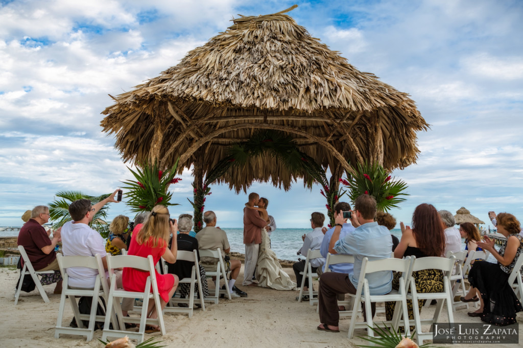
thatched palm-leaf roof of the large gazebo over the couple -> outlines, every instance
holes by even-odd
[[[408,94],[358,71],[285,12],[234,19],[178,65],[114,98],[101,125],[116,133],[123,160],[168,166],[180,156],[180,170],[199,162],[207,172],[233,143],[276,130],[332,172],[340,162],[350,170],[346,161],[415,162],[416,132],[428,124]],[[288,188],[295,178],[266,155],[221,181],[238,189],[256,179]]]

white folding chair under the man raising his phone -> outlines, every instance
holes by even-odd
[[[54,328],[54,338],[60,338],[60,334],[72,334],[81,335],[86,337],[86,341],[93,339],[95,330],[95,322],[103,322],[105,316],[96,315],[98,307],[98,299],[107,299],[108,286],[107,280],[105,279],[105,272],[103,272],[103,278],[100,277],[101,257],[100,255],[94,256],[62,256],[61,254],[56,255],[58,265],[60,266],[60,272],[62,272],[63,285],[62,285],[62,296],[60,298],[60,306],[58,309],[58,318],[56,318],[56,327]],[[84,267],[96,269],[98,271],[98,277],[96,277],[95,285],[93,288],[78,288],[69,286],[69,275],[66,270],[70,267]],[[81,314],[78,309],[78,303],[76,303],[76,297],[87,296],[92,297],[92,304],[90,314]],[[63,326],[63,316],[65,310],[66,297],[69,297],[71,308],[73,310],[74,318],[76,320],[77,328]],[[89,325],[87,328],[83,325],[83,320],[88,320]],[[116,325],[115,317],[112,317],[113,325]],[[109,324],[107,324],[109,325]]]

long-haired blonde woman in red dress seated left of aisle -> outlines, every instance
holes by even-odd
[[[169,263],[175,263],[178,250],[176,238],[173,238],[170,249],[167,248],[167,242],[171,235],[176,236],[177,230],[178,223],[176,220],[174,220],[174,223],[169,221],[169,210],[165,206],[155,206],[147,221],[143,225],[135,227],[128,255],[141,257],[152,255],[155,265],[160,260],[160,257]],[[156,272],[156,270],[154,271]],[[149,277],[147,272],[124,267],[122,275],[123,289],[142,292],[145,289],[147,277]],[[178,277],[175,274],[160,274],[156,272],[156,284],[158,285],[158,293],[160,293],[160,303],[162,305],[160,310],[162,310],[176,291]],[[151,299],[147,308],[147,318],[157,317],[158,311],[154,301]],[[148,326],[147,331],[157,332],[160,331],[160,328]]]

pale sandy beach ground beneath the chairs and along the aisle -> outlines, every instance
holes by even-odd
[[[284,268],[291,278],[294,274],[291,268]],[[60,303],[60,296],[53,295],[54,285],[44,286],[50,302],[44,303],[35,290],[20,294],[18,305],[14,305],[14,286],[18,280],[19,270],[0,268],[0,310],[4,319],[0,326],[0,346],[2,347],[101,347],[98,338],[101,331],[95,332],[94,339],[85,342],[85,338],[72,335],[62,335],[54,339],[54,326]],[[243,279],[242,273],[238,279]],[[209,286],[212,287],[212,282]],[[317,284],[316,284],[317,285]],[[315,306],[309,303],[298,303],[295,297],[298,291],[276,291],[256,286],[241,286],[248,297],[221,300],[219,304],[206,304],[206,311],[195,309],[194,315],[165,315],[167,335],[160,337],[169,347],[356,347],[366,344],[358,338],[365,331],[356,330],[353,340],[347,339],[349,319],[340,320],[340,332],[331,333],[316,330],[319,317]],[[69,306],[66,306],[66,308]],[[72,319],[68,310],[67,320]],[[424,308],[422,315],[428,317],[433,313],[434,306]],[[379,315],[377,320],[380,320]],[[519,313],[519,332],[523,332],[523,314]],[[446,316],[441,321],[446,320]],[[462,307],[454,313],[456,322],[475,322],[476,318],[467,316],[467,309]],[[153,335],[147,335],[146,338]],[[523,343],[521,335],[519,345]],[[501,345],[471,345],[455,344],[463,347],[514,347],[514,344]]]

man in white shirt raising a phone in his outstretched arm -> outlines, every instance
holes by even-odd
[[[104,269],[107,270],[107,261],[105,259],[106,250],[104,238],[93,230],[89,223],[93,221],[94,215],[107,203],[118,201],[115,195],[116,190],[112,195],[106,199],[99,201],[94,206],[91,206],[91,201],[88,199],[78,199],[69,206],[69,214],[73,221],[66,222],[62,226],[62,251],[64,256],[95,256],[99,254],[102,256],[101,260]],[[98,277],[98,270],[85,267],[70,267],[67,268],[67,275],[69,276],[69,286],[92,289],[95,286],[96,277]],[[117,279],[117,286],[122,287],[121,271],[116,273],[119,275]],[[131,301],[129,301],[131,300]],[[124,298],[122,302],[122,314],[127,315],[127,311],[133,308],[132,298]]]

